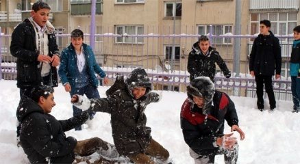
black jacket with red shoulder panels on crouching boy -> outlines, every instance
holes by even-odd
[[[223,92],[214,93],[213,105],[210,107],[208,118],[201,109],[187,98],[180,113],[184,141],[197,154],[216,154],[218,147],[214,146],[217,137],[223,136],[224,122],[229,126],[238,125],[238,115],[234,102]]]

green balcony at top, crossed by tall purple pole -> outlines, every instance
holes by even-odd
[[[103,14],[103,1],[96,1],[96,14]],[[92,2],[88,1],[71,1],[71,15],[82,16],[91,14]]]

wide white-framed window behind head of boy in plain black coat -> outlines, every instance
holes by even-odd
[[[252,13],[250,18],[251,35],[260,33],[260,20],[264,19],[268,19],[271,21],[270,30],[277,35],[292,34],[292,29],[297,26],[297,12]]]

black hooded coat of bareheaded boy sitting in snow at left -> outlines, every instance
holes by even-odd
[[[34,100],[22,96],[16,117],[21,122],[21,146],[30,163],[73,163],[76,139],[64,131],[86,122],[88,113],[68,120],[56,120]]]

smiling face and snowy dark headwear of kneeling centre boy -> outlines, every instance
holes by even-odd
[[[132,70],[126,79],[126,83],[136,99],[144,96],[152,90],[150,79],[146,71],[142,68]]]

